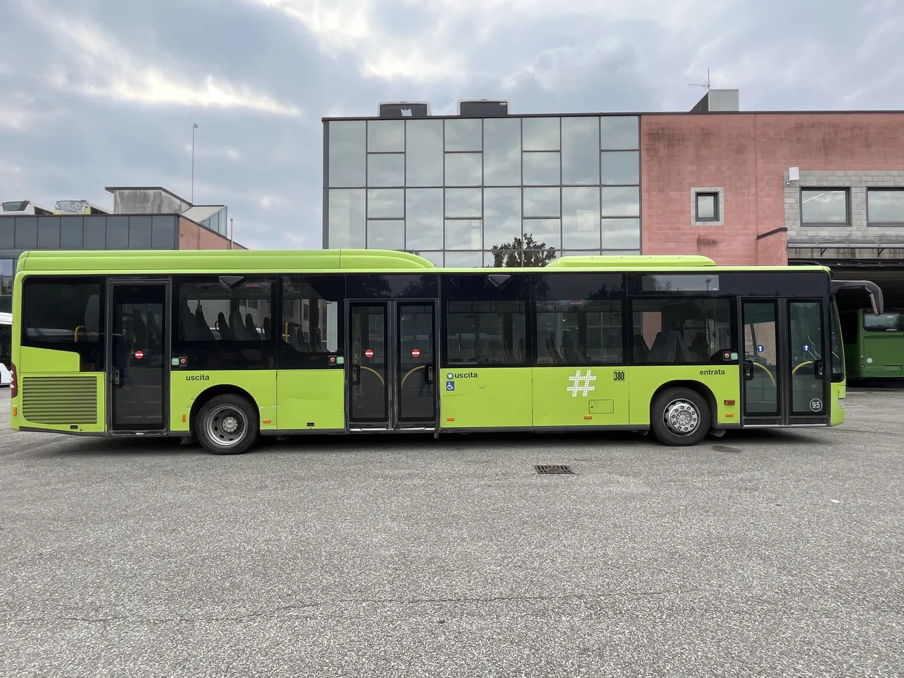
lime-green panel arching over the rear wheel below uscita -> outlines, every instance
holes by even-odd
[[[187,433],[194,401],[216,386],[248,391],[260,410],[260,430],[277,429],[276,370],[173,370],[170,372],[170,431]]]

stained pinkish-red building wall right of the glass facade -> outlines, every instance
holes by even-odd
[[[888,181],[873,183],[880,177],[873,173],[900,170],[902,159],[902,113],[642,116],[643,251],[699,253],[720,264],[783,264],[787,237],[798,229],[793,215],[800,193],[797,186],[786,189],[789,167],[800,168],[801,184],[812,173],[855,173],[866,177],[857,184],[865,192],[866,185]],[[694,221],[697,187],[720,193],[720,222]],[[781,228],[789,232],[758,240]]]

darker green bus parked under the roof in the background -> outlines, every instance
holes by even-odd
[[[844,363],[852,380],[904,377],[904,313],[867,309],[840,314]]]

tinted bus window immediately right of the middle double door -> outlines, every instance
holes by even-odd
[[[499,286],[483,275],[443,279],[446,364],[527,364],[528,278],[510,276]]]

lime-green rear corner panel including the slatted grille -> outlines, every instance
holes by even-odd
[[[107,422],[105,372],[80,372],[79,354],[20,346],[14,358],[18,394],[14,430],[40,428],[60,433],[104,433]],[[23,372],[19,365],[39,365]]]

